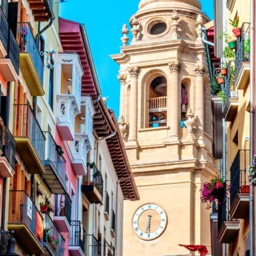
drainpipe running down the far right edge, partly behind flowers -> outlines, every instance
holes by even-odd
[[[254,86],[255,86],[255,0],[250,1],[250,163],[253,162],[254,155]],[[249,226],[250,226],[250,255],[254,256],[254,188],[250,184],[249,199]]]

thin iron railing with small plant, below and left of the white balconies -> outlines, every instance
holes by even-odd
[[[44,131],[46,137],[46,161],[51,161],[57,171],[57,176],[65,184],[66,161],[57,152],[57,144],[49,131]]]

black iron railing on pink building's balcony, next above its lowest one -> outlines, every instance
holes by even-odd
[[[54,216],[66,217],[69,225],[71,224],[71,207],[72,207],[72,201],[67,193],[55,196]]]

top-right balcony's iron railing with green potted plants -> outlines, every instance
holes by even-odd
[[[235,74],[243,61],[250,61],[250,23],[243,23],[241,27],[241,36],[237,39]]]

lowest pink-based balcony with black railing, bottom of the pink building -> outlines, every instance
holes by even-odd
[[[72,256],[84,256],[85,230],[82,228],[81,221],[71,221],[68,250]]]

